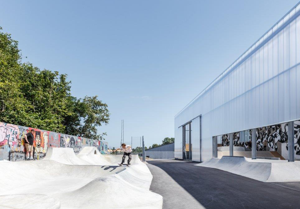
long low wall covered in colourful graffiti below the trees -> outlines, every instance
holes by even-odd
[[[95,146],[101,154],[108,154],[108,143],[101,140],[0,122],[0,159],[24,160],[26,155],[24,135],[32,129],[35,130],[33,143],[35,159],[44,158],[48,147],[69,147],[78,154],[85,146]]]

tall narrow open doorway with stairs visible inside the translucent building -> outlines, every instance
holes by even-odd
[[[192,160],[191,122],[182,126],[182,159]]]

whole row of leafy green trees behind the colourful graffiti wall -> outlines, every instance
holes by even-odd
[[[0,27],[0,121],[103,139],[97,127],[109,122],[107,104],[71,95],[66,74],[22,63],[18,42]]]

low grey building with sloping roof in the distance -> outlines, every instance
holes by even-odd
[[[151,159],[174,159],[174,142],[147,149],[145,156]]]

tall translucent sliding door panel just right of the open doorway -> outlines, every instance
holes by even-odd
[[[192,160],[200,162],[200,117],[191,122]]]

